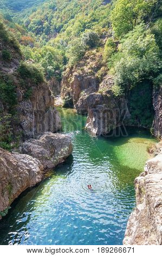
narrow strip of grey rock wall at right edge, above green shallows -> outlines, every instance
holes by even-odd
[[[154,122],[153,132],[156,137],[162,136],[162,88],[153,92]]]

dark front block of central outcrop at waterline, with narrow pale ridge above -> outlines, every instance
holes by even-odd
[[[120,125],[130,114],[127,102],[115,97],[112,92],[113,77],[107,75],[99,86],[98,93],[87,97],[88,117],[86,129],[94,135],[106,135]]]

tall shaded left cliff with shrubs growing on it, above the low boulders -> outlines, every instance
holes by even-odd
[[[9,117],[13,141],[60,130],[53,95],[54,87],[59,90],[59,83],[55,77],[47,83],[33,60],[23,62],[18,42],[1,22],[0,32],[0,126],[6,126]]]

